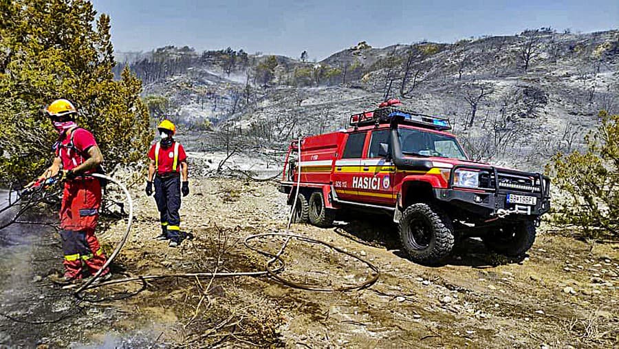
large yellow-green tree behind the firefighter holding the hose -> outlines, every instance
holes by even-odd
[[[135,162],[153,138],[142,83],[113,81],[110,19],[85,0],[0,1],[0,178],[32,178],[49,165],[57,134],[39,111],[74,102],[108,169]]]

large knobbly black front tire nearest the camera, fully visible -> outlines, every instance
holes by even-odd
[[[455,237],[448,216],[429,204],[412,204],[398,224],[400,243],[411,260],[439,264],[453,250]]]

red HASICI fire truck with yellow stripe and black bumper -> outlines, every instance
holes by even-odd
[[[532,246],[550,209],[546,176],[469,160],[448,119],[397,100],[352,115],[350,127],[290,143],[280,191],[290,205],[297,198],[296,222],[327,227],[345,210],[386,212],[423,264],[442,262],[461,237],[511,256]]]

